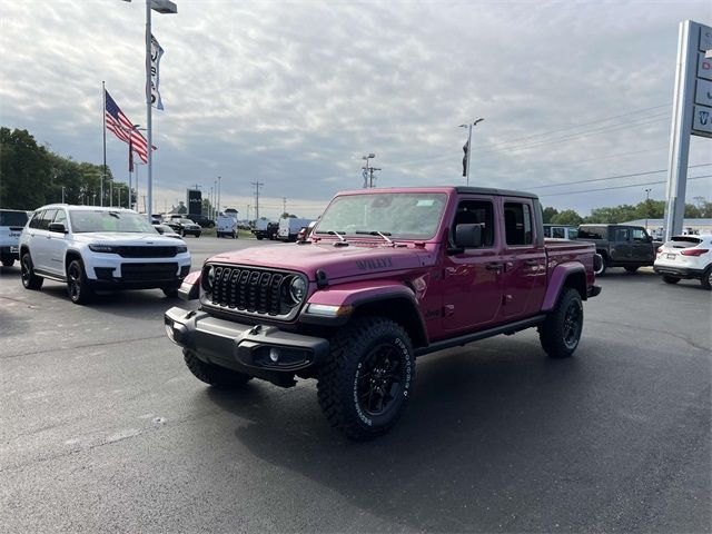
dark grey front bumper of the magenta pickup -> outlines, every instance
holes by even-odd
[[[329,354],[329,342],[268,325],[244,325],[205,312],[170,308],[164,317],[168,337],[208,364],[250,375],[294,372]]]

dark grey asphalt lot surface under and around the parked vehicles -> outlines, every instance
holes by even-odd
[[[219,250],[283,247],[186,238]],[[710,532],[712,294],[611,269],[573,358],[535,330],[417,360],[388,435],[352,443],[313,380],[214,390],[162,313],[72,305],[0,270],[2,532]]]

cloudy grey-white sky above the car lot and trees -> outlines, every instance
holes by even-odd
[[[582,215],[636,204],[645,188],[662,199],[664,184],[645,184],[664,172],[566,184],[666,168],[679,22],[712,24],[712,2],[684,0],[176,3],[178,14],[154,16],[166,51],[157,208],[221,176],[221,204],[241,214],[250,182],[264,182],[267,216],[283,197],[316,216],[362,187],[368,152],[378,186],[464,184],[458,125],[479,117],[472,185],[533,190]],[[141,0],[0,0],[0,125],[101,162],[102,80],[146,121],[144,24]],[[691,165],[712,162],[711,142],[693,138]],[[113,137],[107,161],[127,179]],[[712,198],[712,179],[691,180],[694,196]]]

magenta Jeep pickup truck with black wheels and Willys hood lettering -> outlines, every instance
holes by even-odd
[[[592,244],[545,241],[535,195],[475,187],[338,194],[309,238],[209,258],[168,337],[200,380],[316,378],[330,424],[366,439],[413,395],[416,357],[524,328],[552,358],[578,345],[596,296]]]

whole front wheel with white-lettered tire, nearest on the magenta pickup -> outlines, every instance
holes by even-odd
[[[403,415],[415,383],[415,355],[400,325],[364,317],[332,339],[317,394],[332,426],[352,439],[388,432]]]

